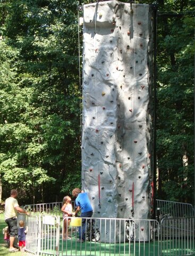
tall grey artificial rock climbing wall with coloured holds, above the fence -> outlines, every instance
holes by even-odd
[[[94,217],[150,215],[152,19],[147,4],[84,5],[82,188]]]

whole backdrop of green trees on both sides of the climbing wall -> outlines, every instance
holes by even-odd
[[[17,188],[23,203],[60,201],[81,186],[78,4],[0,2],[3,198]],[[194,175],[192,12],[190,0],[158,1],[158,13],[184,15],[158,16],[157,193],[189,203]]]

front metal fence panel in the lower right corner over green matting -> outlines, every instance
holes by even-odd
[[[192,255],[195,253],[194,220],[195,217],[162,220],[160,230],[162,256]]]

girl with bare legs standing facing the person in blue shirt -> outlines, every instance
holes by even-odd
[[[71,198],[69,196],[64,197],[61,211],[63,212],[63,219],[65,217],[72,216],[72,204],[71,204]],[[64,240],[70,239],[70,237],[67,235],[67,228],[69,227],[70,222],[71,222],[71,219],[64,220],[64,229],[63,229]]]

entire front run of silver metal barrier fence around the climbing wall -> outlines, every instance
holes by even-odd
[[[157,220],[75,217],[65,218],[60,222],[60,216],[42,214],[19,214],[18,220],[21,219],[26,222],[28,230],[26,251],[35,255],[195,254],[195,217],[163,219],[160,223]]]

